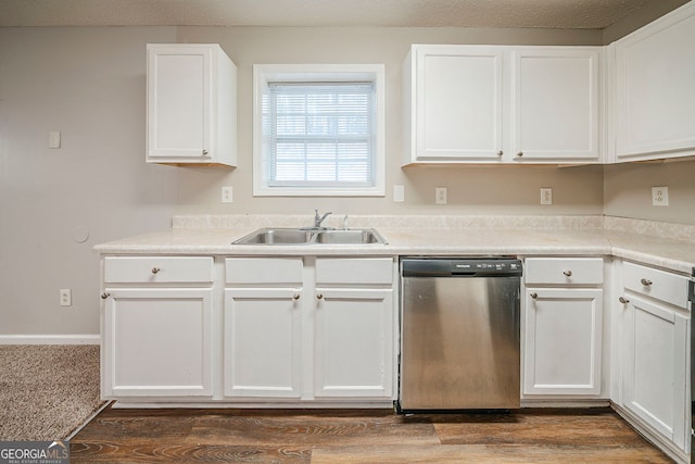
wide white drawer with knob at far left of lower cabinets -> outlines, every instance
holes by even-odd
[[[213,281],[212,256],[108,256],[106,284],[166,284]]]

